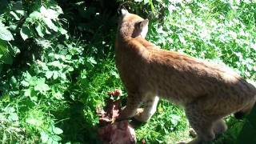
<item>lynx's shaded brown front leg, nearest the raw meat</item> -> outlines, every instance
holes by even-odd
[[[141,101],[142,101],[141,94],[128,93],[126,107],[122,110],[121,114],[118,117],[118,120],[124,120],[124,119],[134,117]]]

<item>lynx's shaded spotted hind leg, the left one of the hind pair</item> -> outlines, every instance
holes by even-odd
[[[186,116],[190,122],[190,126],[195,130],[198,138],[189,142],[190,144],[206,143],[214,140],[214,121],[216,118],[205,114],[198,103],[192,103],[186,106]]]

